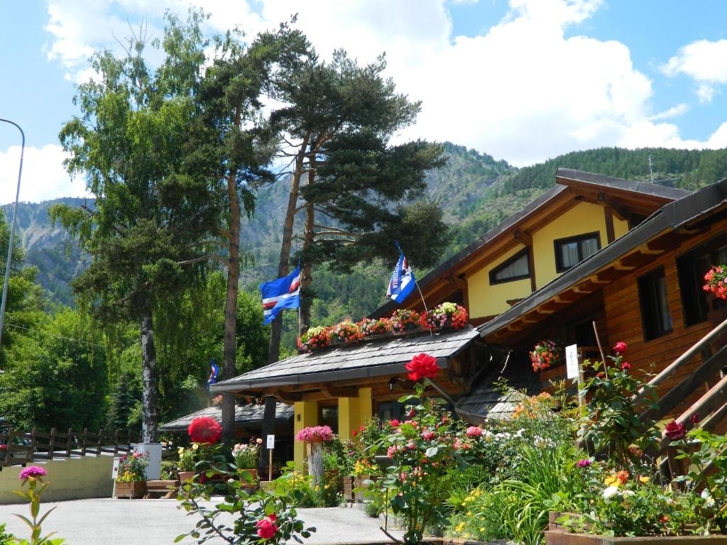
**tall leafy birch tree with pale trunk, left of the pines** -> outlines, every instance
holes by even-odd
[[[100,78],[79,86],[81,116],[60,133],[71,153],[68,171],[87,176],[96,206],[59,205],[51,216],[92,255],[73,286],[86,307],[108,322],[138,324],[146,441],[158,437],[153,310],[201,273],[202,242],[218,221],[209,171],[201,168],[204,150],[188,146],[207,44],[200,22],[196,12],[186,26],[167,17],[166,56],[157,70],[145,62],[144,36],[129,39],[126,57],[97,54],[93,67]]]

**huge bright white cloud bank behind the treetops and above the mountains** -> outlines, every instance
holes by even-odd
[[[158,36],[164,9],[183,16],[189,3],[63,0],[61,9],[60,0],[50,0],[49,54],[78,74],[87,69],[81,58],[89,48],[113,47],[109,29],[128,34],[125,18],[137,25],[148,17]],[[454,35],[447,0],[193,3],[211,12],[215,31],[239,25],[254,36],[297,13],[297,26],[324,57],[343,48],[371,62],[386,52],[398,89],[422,100],[417,125],[400,139],[451,140],[518,166],[607,145],[699,148],[723,141],[721,127],[703,142],[682,140],[678,126],[664,121],[686,105],[654,112],[651,80],[634,67],[624,44],[574,35],[602,0],[510,0],[507,16],[473,37]],[[688,47],[680,58],[702,58]],[[707,100],[721,81],[719,70],[675,59],[669,70],[699,75]],[[727,55],[718,64],[727,67]]]

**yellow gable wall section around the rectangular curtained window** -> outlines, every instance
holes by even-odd
[[[614,217],[614,236],[619,237],[623,234],[624,227],[622,223],[624,222]],[[616,227],[616,224],[618,224],[618,227]],[[559,217],[554,217],[549,223],[533,233],[537,288],[542,288],[559,274],[555,270],[555,246],[553,241],[558,240],[558,238],[585,235],[595,231],[599,233],[601,248],[603,248],[608,243],[605,209],[598,204],[581,202],[570,210],[563,212]]]

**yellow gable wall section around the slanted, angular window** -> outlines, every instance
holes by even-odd
[[[530,295],[530,278],[490,285],[490,271],[513,257],[525,246],[518,245],[496,261],[467,278],[467,296],[470,299],[470,316],[481,318],[505,312],[510,308],[509,299],[521,299]]]

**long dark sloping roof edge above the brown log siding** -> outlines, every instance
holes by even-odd
[[[678,201],[665,204],[621,238],[604,246],[603,249],[584,259],[538,291],[534,291],[514,307],[502,312],[497,318],[479,326],[481,336],[487,336],[507,326],[516,318],[597,273],[619,257],[650,241],[659,233],[670,229],[678,230],[680,227],[693,224],[700,219],[723,211],[726,206],[727,178],[702,187],[694,193],[689,193]]]

